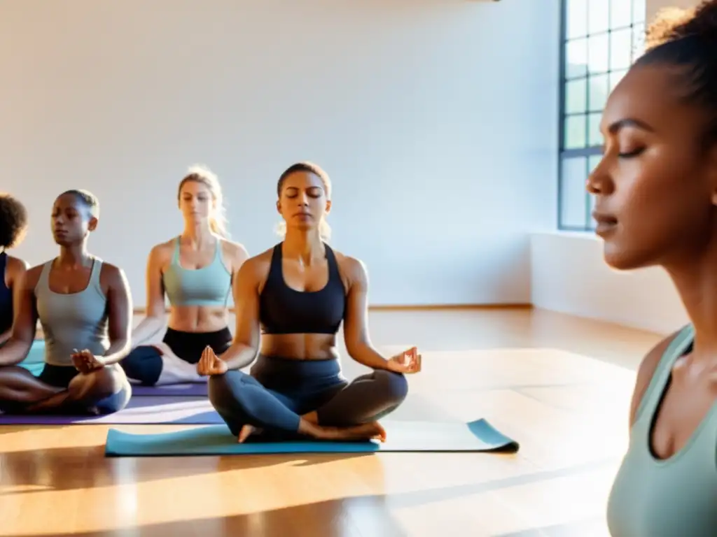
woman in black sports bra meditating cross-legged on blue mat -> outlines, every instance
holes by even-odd
[[[404,373],[420,370],[420,356],[411,349],[385,359],[371,346],[366,269],[323,241],[331,208],[326,173],[295,164],[281,175],[277,193],[285,239],[244,263],[234,291],[232,346],[219,356],[205,349],[197,364],[210,377],[209,400],[239,442],[260,432],[384,440],[377,420],[404,400]],[[348,354],[374,369],[351,383],[336,352],[342,321]],[[251,374],[239,371],[259,351]]]

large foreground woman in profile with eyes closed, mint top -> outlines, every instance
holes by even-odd
[[[614,537],[717,535],[717,1],[670,13],[609,97],[587,185],[607,263],[663,266],[690,317],[638,370]]]

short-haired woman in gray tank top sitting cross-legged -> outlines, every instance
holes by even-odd
[[[0,410],[109,414],[131,387],[118,366],[129,352],[132,304],[121,269],[87,252],[98,225],[97,198],[68,190],[52,208],[60,256],[29,269],[19,291],[12,334],[0,348]],[[37,319],[45,334],[39,377],[17,367],[29,352]]]

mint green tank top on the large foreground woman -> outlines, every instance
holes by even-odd
[[[693,327],[685,326],[665,350],[637,407],[630,445],[607,505],[613,537],[717,536],[717,404],[678,453],[659,460],[650,449],[673,364],[693,340]]]

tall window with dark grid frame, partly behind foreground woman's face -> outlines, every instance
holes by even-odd
[[[562,0],[558,228],[592,231],[585,190],[602,155],[607,96],[642,52],[645,0]]]

